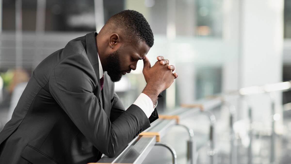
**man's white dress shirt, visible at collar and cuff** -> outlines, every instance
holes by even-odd
[[[98,61],[99,61],[99,78],[102,78],[104,75],[104,71],[100,62],[99,55],[98,55]],[[150,117],[152,112],[155,110],[155,108],[153,107],[154,104],[152,103],[152,100],[150,99],[150,97],[148,97],[148,95],[144,93],[141,93],[133,104],[141,108],[141,110],[145,113],[145,115],[148,118]],[[157,106],[157,103],[155,104],[155,107],[156,106]]]

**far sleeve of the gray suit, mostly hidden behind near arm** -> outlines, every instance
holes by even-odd
[[[111,108],[110,112],[110,121],[113,122],[116,118],[118,118],[124,111],[123,104],[121,103],[118,95],[114,92],[114,97],[113,97],[113,106]],[[154,122],[159,118],[157,108],[154,109],[152,112],[151,116],[148,118],[150,123]]]

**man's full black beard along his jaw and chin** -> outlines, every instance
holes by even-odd
[[[119,51],[116,50],[106,57],[107,60],[107,74],[111,81],[120,81],[122,74],[120,68]]]

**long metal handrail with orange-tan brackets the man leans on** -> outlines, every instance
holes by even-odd
[[[279,84],[282,84],[283,87],[280,87]],[[247,92],[248,88],[242,88],[232,93],[216,95],[219,98],[214,98],[212,100],[207,100],[207,99],[199,100],[197,101],[197,104],[200,104],[201,106],[198,106],[195,108],[192,108],[192,107],[179,108],[175,111],[168,113],[168,115],[178,115],[179,118],[182,119],[191,114],[198,113],[199,111],[201,111],[201,109],[203,111],[209,111],[210,109],[213,109],[213,108],[218,107],[219,105],[222,105],[223,101],[226,101],[226,100],[221,99],[221,97],[225,98],[225,96],[227,95],[235,94],[235,95],[238,95],[238,97],[240,97],[239,95],[243,95],[242,97],[244,97],[245,95],[270,93],[277,90],[285,91],[285,90],[289,90],[290,86],[291,86],[290,82],[269,84],[265,86],[255,86],[255,88],[257,88],[256,92],[249,92],[249,93]],[[252,89],[252,87],[249,87],[249,89]],[[215,122],[213,120],[215,120],[213,116],[210,117],[211,123]],[[168,131],[168,129],[172,125],[176,125],[176,124],[177,123],[175,119],[171,119],[171,120],[158,119],[154,121],[151,124],[151,127],[145,130],[145,132],[159,132],[160,137],[163,137]],[[232,128],[233,121],[231,121],[230,124],[231,124],[230,127]],[[213,133],[212,133],[212,136],[213,136]],[[155,146],[156,143],[157,143],[156,136],[139,136],[135,138],[132,142],[130,142],[129,145],[125,147],[125,149],[121,151],[121,153],[118,156],[114,158],[108,158],[107,156],[104,156],[97,163],[141,163],[145,159],[145,157],[148,155],[150,150],[153,148],[153,146]]]

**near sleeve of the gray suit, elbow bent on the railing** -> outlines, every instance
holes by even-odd
[[[113,157],[150,122],[134,104],[111,122],[93,94],[96,87],[100,86],[95,71],[83,53],[61,60],[49,78],[50,93],[77,128],[98,150]]]

